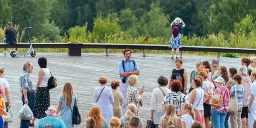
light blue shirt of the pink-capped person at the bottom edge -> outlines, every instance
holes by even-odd
[[[45,120],[50,123],[51,121],[53,121],[56,117],[54,116],[47,116],[45,117]],[[42,128],[43,125],[45,124],[45,122],[41,119],[38,122],[37,128]],[[54,128],[66,128],[64,122],[61,119],[58,119],[56,121],[54,121],[54,123],[52,124],[54,126]]]

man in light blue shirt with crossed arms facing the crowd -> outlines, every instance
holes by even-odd
[[[123,60],[124,67],[123,67],[122,61],[120,61],[119,65],[118,65],[119,75],[120,75],[120,79],[121,79],[120,90],[123,95],[123,105],[121,106],[122,115],[125,114],[125,112],[127,110],[127,105],[128,105],[127,96],[126,96],[126,91],[127,91],[127,88],[129,87],[128,78],[132,74],[135,74],[135,75],[140,74],[140,69],[139,69],[138,63],[136,61],[133,62],[133,60],[131,59],[132,51],[130,49],[124,49],[123,54],[124,54],[124,58],[125,58]]]

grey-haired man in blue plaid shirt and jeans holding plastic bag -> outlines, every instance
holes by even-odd
[[[23,105],[26,103],[33,112],[36,88],[30,78],[30,73],[32,72],[33,65],[27,61],[23,65],[23,73],[20,74],[20,92],[22,93],[21,100]],[[20,128],[28,128],[29,124],[29,120],[20,120]]]

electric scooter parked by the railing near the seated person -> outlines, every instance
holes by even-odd
[[[18,52],[16,52],[15,50],[12,50],[12,51],[10,51],[10,55],[12,56],[12,57],[15,57],[16,55],[24,55],[24,57],[25,57],[25,55],[28,55],[28,54],[30,54],[32,57],[35,57],[35,50],[33,49],[33,47],[32,47],[32,44],[31,44],[31,42],[30,42],[30,38],[29,38],[29,34],[28,34],[28,31],[27,31],[27,29],[30,29],[30,28],[32,28],[32,27],[26,27],[26,28],[24,28],[24,29],[26,29],[26,32],[27,32],[27,37],[28,37],[28,40],[29,40],[29,49],[28,49],[28,51],[27,51],[27,53],[18,53]]]

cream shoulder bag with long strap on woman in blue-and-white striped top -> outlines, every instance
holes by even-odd
[[[236,113],[238,112],[238,99],[237,99],[237,91],[236,91],[236,85],[235,85],[235,99],[232,98],[229,101],[229,113]]]

